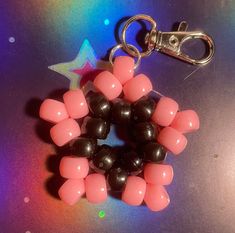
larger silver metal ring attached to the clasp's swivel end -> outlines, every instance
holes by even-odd
[[[156,23],[156,22],[154,21],[154,19],[153,19],[152,17],[150,17],[149,15],[144,15],[144,14],[135,15],[135,16],[131,17],[130,19],[128,19],[128,20],[126,21],[126,23],[125,23],[125,25],[124,25],[124,28],[123,28],[123,30],[122,30],[122,44],[123,44],[124,50],[125,50],[127,53],[129,53],[129,54],[131,54],[132,56],[134,56],[134,57],[137,57],[138,54],[135,53],[134,50],[131,50],[131,49],[130,49],[130,46],[128,46],[128,44],[126,43],[126,31],[127,31],[127,29],[129,28],[129,26],[130,26],[134,21],[138,21],[138,20],[146,20],[146,21],[150,22],[151,25],[152,25],[151,31],[152,31],[153,29],[156,29],[156,28],[157,28],[157,23]],[[148,56],[151,52],[152,52],[152,50],[148,48],[146,51],[144,51],[144,52],[139,52],[139,53],[140,53],[140,56],[141,56],[141,57],[146,57],[146,56]]]

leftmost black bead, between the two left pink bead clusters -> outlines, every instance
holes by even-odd
[[[78,138],[72,145],[72,154],[79,157],[91,157],[95,154],[97,140],[94,138]]]

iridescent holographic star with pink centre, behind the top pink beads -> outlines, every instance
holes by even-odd
[[[90,42],[85,39],[82,43],[77,57],[70,62],[59,63],[48,67],[49,69],[64,75],[70,80],[70,89],[75,89],[82,85],[81,78],[87,81],[100,70],[110,69],[110,63],[96,58],[94,49]]]

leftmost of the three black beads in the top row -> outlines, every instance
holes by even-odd
[[[87,95],[87,103],[92,115],[96,118],[108,119],[111,112],[111,103],[104,95],[91,92]]]

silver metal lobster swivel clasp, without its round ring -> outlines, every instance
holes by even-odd
[[[182,21],[178,31],[161,32],[152,28],[151,32],[146,35],[145,42],[148,45],[148,51],[157,50],[175,58],[189,62],[194,65],[207,64],[213,57],[215,45],[212,38],[200,31],[187,31],[188,24]],[[194,59],[181,51],[182,45],[187,40],[201,39],[206,44],[207,55],[202,59]]]

